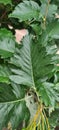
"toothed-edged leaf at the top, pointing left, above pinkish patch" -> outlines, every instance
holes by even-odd
[[[39,5],[36,2],[25,0],[15,7],[9,17],[18,18],[21,21],[31,20],[32,18],[38,19],[39,11]]]

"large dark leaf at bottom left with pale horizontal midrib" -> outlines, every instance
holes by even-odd
[[[14,130],[20,128],[22,121],[28,121],[30,114],[24,96],[22,86],[0,84],[0,130],[9,123]]]

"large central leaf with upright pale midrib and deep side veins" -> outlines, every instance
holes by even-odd
[[[53,69],[53,65],[50,64],[51,58],[47,55],[45,48],[39,47],[39,44],[34,41],[32,43],[29,35],[23,39],[22,48],[20,51],[17,49],[17,53],[10,62],[19,67],[11,69],[15,75],[11,75],[10,79],[17,84],[31,87],[35,87],[35,78],[43,78]]]

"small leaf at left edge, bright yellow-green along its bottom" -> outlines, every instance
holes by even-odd
[[[0,82],[9,83],[9,70],[5,65],[0,65]]]

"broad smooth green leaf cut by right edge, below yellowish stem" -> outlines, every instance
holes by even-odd
[[[43,31],[41,37],[39,38],[42,45],[47,45],[48,40],[59,39],[59,22],[54,21],[46,26],[46,30]]]

